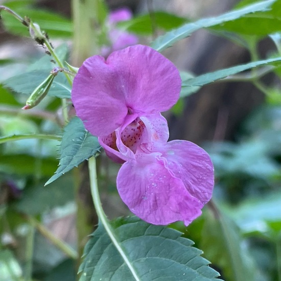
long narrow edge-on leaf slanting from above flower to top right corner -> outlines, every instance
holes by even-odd
[[[252,5],[243,7],[239,10],[230,11],[228,13],[210,17],[210,18],[202,18],[195,22],[191,22],[189,24],[183,25],[178,29],[167,32],[166,34],[158,37],[155,41],[152,42],[151,46],[153,49],[157,51],[163,51],[166,48],[172,46],[175,42],[190,36],[193,32],[201,29],[201,28],[209,28],[216,25],[223,24],[223,22],[235,20],[241,18],[247,14],[251,14],[258,11],[265,11],[270,8],[270,6],[276,0],[267,0],[254,3]]]

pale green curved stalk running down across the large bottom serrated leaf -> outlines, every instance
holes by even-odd
[[[93,204],[95,205],[98,217],[101,220],[113,245],[119,251],[120,255],[122,256],[124,262],[127,264],[128,268],[131,271],[132,275],[134,276],[135,280],[140,281],[140,279],[139,279],[134,267],[132,266],[131,262],[129,261],[124,249],[121,247],[120,242],[115,237],[115,233],[114,233],[113,229],[111,228],[110,223],[109,223],[108,219],[106,218],[106,215],[102,208],[102,203],[101,203],[99,189],[98,189],[97,168],[96,168],[96,158],[95,157],[91,157],[89,159],[89,175],[90,175],[92,200],[93,200]]]

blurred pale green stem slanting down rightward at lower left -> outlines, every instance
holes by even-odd
[[[62,252],[64,252],[67,256],[76,260],[78,257],[78,253],[69,245],[67,245],[64,241],[58,239],[53,235],[51,231],[49,231],[45,226],[39,223],[34,218],[27,216],[27,220],[31,225],[36,227],[36,229],[47,239],[49,239],[56,247],[58,247]]]

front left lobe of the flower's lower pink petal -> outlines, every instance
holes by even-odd
[[[160,153],[143,153],[136,161],[125,162],[117,176],[117,188],[131,212],[152,224],[184,221],[188,225],[203,207],[182,181],[171,175]]]

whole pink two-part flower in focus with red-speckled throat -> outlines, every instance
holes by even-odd
[[[117,188],[143,220],[188,225],[212,196],[214,168],[208,154],[186,140],[167,142],[160,114],[178,100],[174,64],[144,45],[88,58],[74,79],[72,100],[86,129],[123,163]]]

